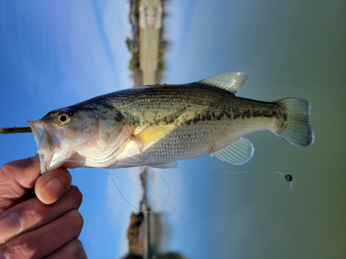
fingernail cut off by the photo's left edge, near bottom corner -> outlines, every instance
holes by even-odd
[[[6,242],[19,233],[23,224],[18,215],[10,214],[0,220],[0,243]]]

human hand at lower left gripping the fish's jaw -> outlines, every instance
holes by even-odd
[[[86,258],[82,193],[66,169],[39,171],[37,156],[0,169],[0,259]]]

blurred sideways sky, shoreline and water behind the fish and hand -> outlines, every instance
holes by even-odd
[[[151,236],[136,229],[142,169],[71,170],[84,195],[80,240],[89,258],[125,258],[131,249],[145,257],[148,247],[148,258],[346,258],[346,2],[160,3],[151,14],[161,19],[149,22],[159,30],[147,32],[158,33],[150,45],[158,63],[145,77],[132,9],[140,1],[1,0],[0,127],[145,78],[183,84],[243,71],[237,96],[309,100],[315,142],[300,148],[257,132],[246,137],[255,153],[243,166],[206,156],[149,169]],[[0,143],[1,165],[36,152],[30,133]],[[277,171],[293,175],[291,190]]]

